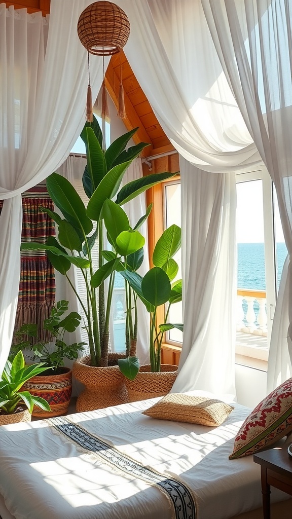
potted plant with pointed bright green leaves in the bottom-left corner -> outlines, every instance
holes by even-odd
[[[26,366],[22,351],[12,362],[7,360],[0,380],[0,425],[30,421],[34,406],[49,411],[46,400],[22,390],[28,380],[47,369],[44,363]]]

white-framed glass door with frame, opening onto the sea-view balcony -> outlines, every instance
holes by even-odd
[[[267,361],[287,249],[267,169],[237,174],[236,191],[237,360]]]

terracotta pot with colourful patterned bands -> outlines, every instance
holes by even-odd
[[[50,405],[51,411],[44,411],[34,406],[32,416],[50,418],[65,415],[71,400],[72,370],[69,367],[60,368],[62,373],[36,375],[25,382],[23,389],[28,390],[35,397],[44,398]]]

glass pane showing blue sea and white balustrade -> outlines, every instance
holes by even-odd
[[[262,181],[237,183],[236,192],[237,352],[238,345],[267,349]]]

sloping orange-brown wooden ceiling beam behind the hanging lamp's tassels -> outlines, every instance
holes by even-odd
[[[109,63],[107,72],[105,74],[105,86],[109,92],[110,97],[113,100],[116,109],[118,110],[118,92],[120,90],[120,79],[116,75],[116,72],[114,71],[111,62]],[[140,142],[149,142],[151,144],[150,146],[145,147],[141,154],[143,157],[148,157],[149,155],[153,154],[152,142],[149,139],[149,135],[145,130],[144,126],[142,125],[142,122],[138,117],[137,112],[134,106],[132,105],[131,101],[129,100],[129,97],[125,90],[124,100],[126,117],[123,118],[123,122],[128,131],[132,130],[133,128],[139,127],[135,135],[133,135],[133,140],[135,144],[139,144]]]

